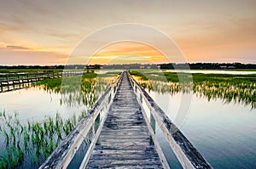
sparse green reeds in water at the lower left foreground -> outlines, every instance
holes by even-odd
[[[78,119],[73,115],[70,119],[63,120],[56,114],[55,118],[47,117],[40,122],[27,121],[22,125],[17,113],[6,115],[4,111],[1,112],[0,132],[5,140],[5,152],[0,156],[0,168],[22,166],[25,161],[29,162],[25,166],[38,167],[84,115],[82,113]]]

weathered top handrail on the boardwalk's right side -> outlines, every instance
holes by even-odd
[[[149,127],[155,131],[155,122],[166,137],[174,154],[183,168],[212,168],[197,149],[189,142],[183,133],[172,123],[166,113],[154,103],[142,86],[140,86],[130,75],[131,85],[137,94],[137,100],[143,108],[143,115],[146,121],[150,121]],[[147,115],[149,110],[149,115]],[[153,141],[158,145],[153,137]],[[159,146],[156,146],[157,148]]]

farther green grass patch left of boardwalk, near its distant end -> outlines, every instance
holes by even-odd
[[[45,79],[34,83],[49,93],[61,93],[61,104],[92,106],[104,91],[113,83],[117,73],[85,73],[81,76],[68,76],[63,79]]]

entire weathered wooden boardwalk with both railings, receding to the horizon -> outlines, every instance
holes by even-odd
[[[183,168],[212,168],[128,71],[40,168],[73,168],[73,163],[77,168],[170,168],[155,138],[156,126]],[[83,160],[73,161],[84,140]]]

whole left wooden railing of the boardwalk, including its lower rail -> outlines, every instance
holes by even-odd
[[[90,112],[79,122],[77,127],[74,128],[73,132],[68,134],[67,138],[62,141],[62,143],[39,168],[67,168],[69,163],[73,160],[73,157],[80,145],[84,141],[84,138],[87,138],[92,131],[94,132],[94,136],[80,167],[87,163],[89,159],[88,157],[96,144],[96,139],[102,130],[102,125],[106,119],[109,106],[113,102],[113,97],[119,87],[119,82],[122,77],[123,74],[121,74],[113,85],[102,95],[102,97],[96,101],[96,104],[94,104]]]

